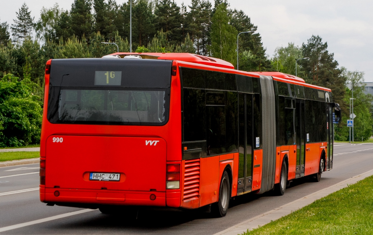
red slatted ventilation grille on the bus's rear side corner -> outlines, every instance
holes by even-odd
[[[185,161],[183,201],[198,199],[200,196],[200,159]]]

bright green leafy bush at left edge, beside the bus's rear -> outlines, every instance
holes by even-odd
[[[40,142],[43,109],[35,83],[7,74],[0,81],[0,147]]]

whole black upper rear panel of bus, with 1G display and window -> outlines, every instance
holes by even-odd
[[[172,61],[54,59],[51,123],[162,126],[169,115]]]

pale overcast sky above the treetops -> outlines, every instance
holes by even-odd
[[[122,4],[126,0],[117,0]],[[175,0],[180,6],[191,0]],[[213,3],[213,0],[210,0]],[[295,42],[301,46],[312,35],[327,42],[339,66],[365,72],[373,82],[373,3],[372,0],[228,0],[231,8],[241,9],[258,26],[267,54],[276,47]],[[9,25],[25,2],[37,20],[40,10],[58,3],[70,9],[73,0],[0,0],[0,22]]]

